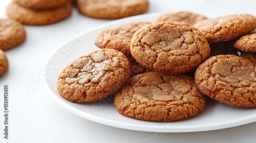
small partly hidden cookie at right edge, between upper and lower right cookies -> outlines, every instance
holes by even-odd
[[[234,42],[234,47],[245,51],[256,52],[256,30],[237,39]]]

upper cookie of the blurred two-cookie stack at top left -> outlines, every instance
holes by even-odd
[[[66,4],[71,0],[13,0],[16,4],[28,9],[48,9]]]

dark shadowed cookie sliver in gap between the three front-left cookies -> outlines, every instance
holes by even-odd
[[[137,74],[152,71],[151,69],[141,66],[132,56],[127,56],[127,59],[131,63],[131,77],[133,77]]]

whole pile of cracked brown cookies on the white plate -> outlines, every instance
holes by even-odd
[[[115,93],[119,113],[155,122],[198,115],[206,107],[206,96],[231,106],[256,107],[254,54],[246,54],[250,60],[233,50],[254,49],[255,28],[251,15],[208,19],[189,12],[109,28],[96,37],[95,45],[102,49],[62,71],[58,92],[72,102],[93,102]],[[225,49],[212,52],[215,46]]]

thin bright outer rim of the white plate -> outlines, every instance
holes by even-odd
[[[105,26],[110,26],[110,25],[113,25],[113,24],[126,22],[126,21],[129,21],[129,20],[137,20],[137,19],[140,19],[140,18],[154,17],[154,16],[157,16],[157,15],[160,15],[160,14],[163,14],[163,12],[141,14],[141,15],[126,17],[126,18],[122,18],[122,19],[118,19],[118,20],[113,20],[113,21],[101,24],[99,26],[96,26],[96,27],[92,28],[91,30],[81,32],[80,35],[81,36],[86,35],[90,32],[96,31],[99,28],[103,28]],[[43,69],[45,69],[48,66],[48,62],[50,62],[51,58],[54,56],[54,54],[56,54],[56,52],[59,49],[61,49],[63,46],[67,45],[68,43],[70,43],[74,39],[75,39],[75,37],[70,38],[69,40],[62,43],[60,46],[58,46],[55,50],[53,50],[52,53],[48,56],[44,65],[42,66]],[[44,87],[45,87],[46,91],[52,97],[52,99],[55,102],[57,102],[58,105],[65,108],[66,110],[74,113],[75,115],[77,115],[81,118],[84,118],[84,119],[87,119],[87,120],[90,120],[90,121],[93,121],[93,122],[96,122],[96,123],[99,123],[99,124],[112,126],[112,127],[116,127],[116,128],[121,128],[121,129],[135,130],[135,131],[145,131],[145,132],[185,133],[185,132],[201,132],[201,131],[212,131],[212,130],[226,129],[226,128],[237,127],[237,126],[249,124],[249,123],[252,123],[252,122],[256,122],[256,114],[255,114],[255,116],[248,117],[248,119],[246,121],[242,120],[243,122],[239,122],[240,120],[236,120],[236,121],[231,121],[231,122],[222,122],[222,123],[219,123],[219,124],[204,125],[204,126],[189,126],[189,127],[180,127],[180,126],[175,127],[175,126],[172,126],[172,128],[168,128],[167,130],[161,130],[161,127],[164,127],[164,126],[161,126],[160,129],[159,129],[159,126],[128,124],[128,123],[123,123],[123,122],[120,122],[120,121],[112,121],[110,119],[104,119],[104,118],[101,118],[101,117],[97,117],[97,116],[91,115],[90,113],[87,113],[87,112],[81,113],[81,111],[79,111],[75,107],[71,106],[70,104],[66,104],[63,101],[61,101],[60,99],[58,99],[56,97],[56,95],[53,93],[53,91],[50,89],[50,87],[48,86],[48,84],[46,82],[46,79],[43,80],[43,84],[44,84]],[[105,122],[103,122],[103,121],[105,121]],[[145,122],[147,122],[147,121],[145,121]],[[159,123],[164,123],[164,122],[159,122]],[[137,127],[137,128],[135,129],[134,127]]]

